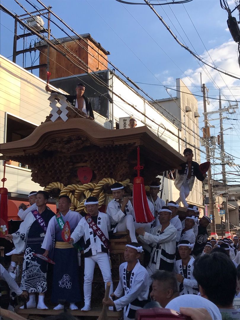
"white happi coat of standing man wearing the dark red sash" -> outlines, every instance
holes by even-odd
[[[110,230],[110,221],[106,213],[98,212],[97,226],[102,230],[105,237],[109,239],[108,231]],[[75,230],[71,234],[71,238],[73,238],[74,243],[76,243],[82,236],[84,237],[85,244],[87,240],[90,239],[90,242],[88,241],[89,245],[84,248],[84,253],[88,252],[91,249],[92,255],[96,255],[98,252],[102,252],[101,246],[104,246],[106,248],[106,246],[101,242],[98,236],[96,236],[96,243],[94,242],[92,228],[89,226],[85,218],[79,221]]]

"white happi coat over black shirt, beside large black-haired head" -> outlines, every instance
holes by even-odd
[[[194,258],[191,258],[188,262],[188,278],[184,278],[183,280],[183,290],[180,292],[180,295],[182,294],[198,294],[198,285],[197,281],[193,276],[193,263],[194,263]],[[174,262],[174,268],[173,271],[176,274],[180,274],[181,276],[183,275],[183,266],[182,266],[182,260],[177,260]],[[178,289],[180,287],[180,284],[178,283]]]

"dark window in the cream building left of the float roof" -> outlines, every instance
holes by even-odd
[[[7,114],[6,142],[12,142],[26,138],[37,126],[27,121]]]

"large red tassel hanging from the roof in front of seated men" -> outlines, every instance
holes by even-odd
[[[138,171],[138,176],[133,180],[132,187],[132,200],[133,209],[135,213],[136,222],[152,222],[154,216],[152,215],[149,206],[148,199],[145,191],[144,180],[140,177],[140,170],[143,166],[140,166],[140,148],[138,147],[138,165],[134,167]]]

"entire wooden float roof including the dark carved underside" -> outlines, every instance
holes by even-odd
[[[137,146],[146,184],[184,162],[176,150],[146,126],[110,130],[85,118],[44,122],[27,138],[2,144],[1,159],[28,164],[32,180],[40,186],[54,181],[78,183],[77,169],[81,166],[89,166],[96,181],[108,177],[132,182]]]

